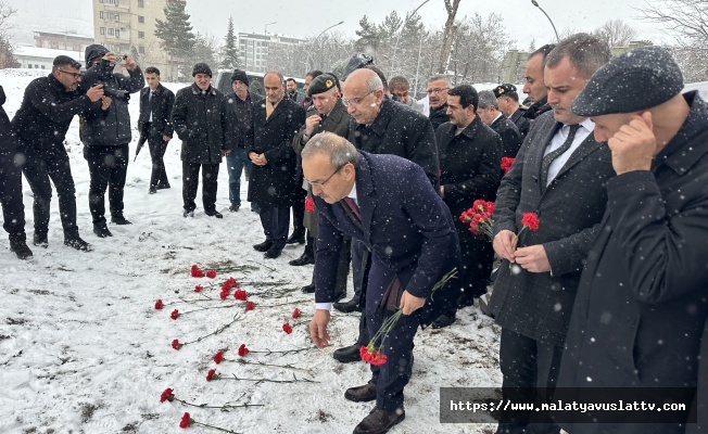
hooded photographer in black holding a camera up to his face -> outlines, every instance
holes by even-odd
[[[104,113],[86,112],[81,141],[84,157],[89,165],[91,182],[89,186],[89,209],[93,218],[93,233],[100,238],[113,237],[105,225],[105,190],[109,190],[111,222],[130,225],[123,215],[123,189],[128,173],[131,128],[128,114],[130,93],[140,91],[144,85],[142,71],[138,64],[124,56],[125,67],[130,74],[113,74],[117,62],[114,53],[99,44],[86,48],[86,74],[81,88],[88,91],[97,84],[112,99]]]

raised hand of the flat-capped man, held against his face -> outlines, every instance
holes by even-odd
[[[632,115],[632,120],[612,136],[607,145],[612,152],[612,167],[617,175],[634,170],[649,170],[656,154],[656,137],[652,130],[652,113]]]

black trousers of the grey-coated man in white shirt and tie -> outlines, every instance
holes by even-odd
[[[562,348],[544,344],[534,339],[502,329],[500,366],[502,368],[502,397],[513,403],[544,403],[551,398],[558,380]],[[540,396],[535,391],[543,391]],[[516,422],[509,414],[508,421],[500,422],[497,434],[558,434],[560,427],[554,423],[527,424]]]

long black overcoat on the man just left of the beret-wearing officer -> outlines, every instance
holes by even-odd
[[[253,148],[246,152],[265,154],[265,166],[253,165],[249,201],[260,206],[290,206],[295,188],[295,153],[292,138],[305,123],[305,110],[283,98],[266,119],[265,103],[254,107]]]

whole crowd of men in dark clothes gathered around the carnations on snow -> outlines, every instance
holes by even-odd
[[[111,221],[130,224],[123,214],[127,102],[140,92],[149,193],[170,188],[163,156],[173,132],[181,140],[184,217],[194,215],[200,171],[204,213],[223,217],[215,204],[224,157],[229,210],[238,212],[245,170],[265,237],[253,248],[275,259],[286,244],[305,244],[290,264],[315,264],[303,292],[315,293],[311,332],[318,346],[328,342],[332,307],[362,311],[357,342],[333,354],[342,362],[359,360],[383,318],[403,309],[381,349],[388,365],[372,366],[371,380],[344,394],[376,400],[355,433],[384,433],[404,419],[417,328],[451,326],[457,309],[485,294],[495,254],[502,261],[489,310],[502,328],[505,398],[547,401],[559,385],[704,384],[692,395],[698,423],[687,429],[529,423],[503,414],[498,433],[707,429],[708,269],[700,253],[708,247],[708,106],[696,92],[681,94],[681,72],[667,52],[644,48],[610,60],[607,43],[585,34],[543,46],[527,64],[529,107],[513,85],[478,92],[445,76],[430,78],[427,100],[415,101],[404,77],[387,80],[366,55],[354,56],[342,77],[308,73],[305,93],[268,72],[264,99],[249,91],[243,71],[233,72],[233,92],[224,94],[210,66],[197,64],[193,82],[175,95],[156,68],[143,77],[124,56],[129,76],[114,74],[118,61],[91,46],[81,76],[78,62],[59,56],[48,77],[27,87],[12,122],[0,113],[3,227],[21,259],[31,256],[21,170],[34,192],[34,245],[48,244],[51,180],[64,243],[91,250],[76,225],[63,145],[75,115],[94,233],[112,235],[106,190]],[[503,157],[515,158],[506,174]],[[495,202],[492,241],[458,218],[475,200]],[[541,224],[519,237],[526,213]],[[354,295],[342,302],[350,261]],[[431,288],[451,267],[456,279],[433,301]]]

